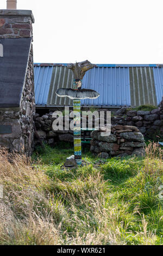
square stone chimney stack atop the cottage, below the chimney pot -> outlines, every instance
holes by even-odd
[[[34,17],[30,10],[0,10],[1,38],[30,38]]]

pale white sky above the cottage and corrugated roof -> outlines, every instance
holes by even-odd
[[[34,62],[163,63],[162,0],[17,0],[17,9],[35,17]]]

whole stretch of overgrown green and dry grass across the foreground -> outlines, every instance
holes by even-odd
[[[65,169],[72,146],[0,155],[0,245],[162,245],[161,148]]]

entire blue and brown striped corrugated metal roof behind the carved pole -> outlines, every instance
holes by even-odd
[[[36,63],[35,101],[41,106],[72,106],[68,97],[58,97],[58,88],[72,88],[72,71],[66,63]],[[96,90],[96,100],[82,100],[85,106],[158,105],[163,90],[162,64],[96,64],[83,78],[83,88]]]

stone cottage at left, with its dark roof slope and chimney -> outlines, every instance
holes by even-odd
[[[7,1],[0,10],[0,148],[30,156],[34,147],[34,70],[31,10]]]

